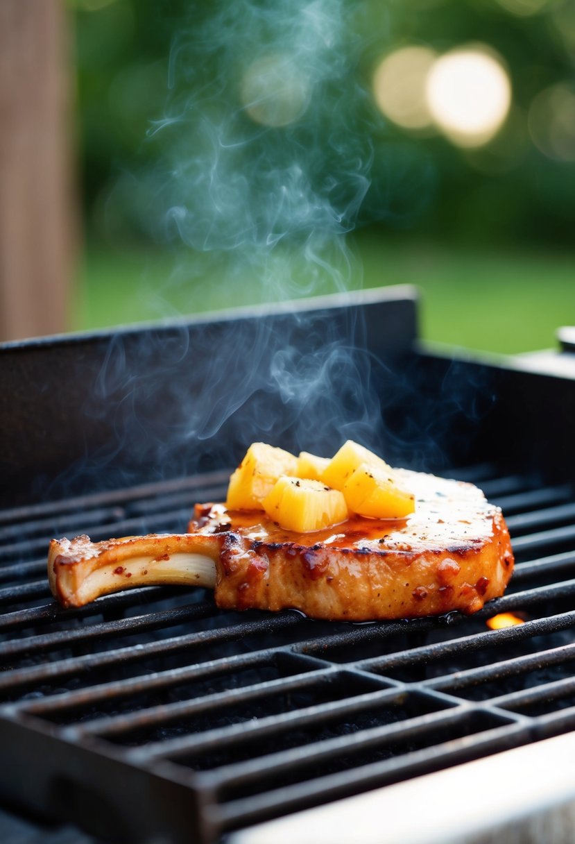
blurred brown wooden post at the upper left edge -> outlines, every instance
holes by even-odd
[[[0,0],[0,341],[67,327],[69,68],[61,0]]]

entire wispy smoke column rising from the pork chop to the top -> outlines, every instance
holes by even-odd
[[[219,288],[224,307],[234,285],[250,284],[252,304],[357,288],[361,262],[348,235],[366,219],[366,208],[370,221],[396,216],[400,225],[419,213],[429,168],[407,143],[385,144],[365,70],[366,50],[373,49],[359,25],[366,6],[343,0],[190,6],[171,48],[164,114],[148,132],[159,164],[137,193],[142,226],[191,254],[172,282],[192,280],[200,295],[208,285],[217,295]],[[118,442],[134,424],[134,408],[145,417],[141,429],[155,442],[138,447],[150,462],[167,462],[175,447],[201,456],[237,419],[229,464],[258,439],[321,454],[348,437],[380,449],[382,414],[364,333],[357,310],[337,322],[293,311],[281,331],[264,319],[248,329],[241,320],[228,322],[210,358],[202,331],[195,339],[183,327],[176,354],[202,367],[190,371],[183,389],[164,341],[143,341],[134,355],[138,379],[120,341],[110,345],[94,400],[116,397]],[[180,411],[152,423],[141,397],[153,377],[164,382],[164,407]],[[95,419],[97,408],[89,413]],[[165,447],[155,438],[165,438]],[[115,459],[118,449],[106,448]],[[181,465],[193,469],[187,458]]]

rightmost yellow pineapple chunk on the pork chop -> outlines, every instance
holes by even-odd
[[[362,463],[343,487],[350,510],[360,516],[379,519],[400,519],[415,511],[415,496],[397,485],[393,470],[382,472],[371,463]]]

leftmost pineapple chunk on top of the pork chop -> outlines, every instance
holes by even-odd
[[[282,448],[254,442],[228,484],[228,510],[262,510],[261,501],[281,475],[294,475],[298,458]]]

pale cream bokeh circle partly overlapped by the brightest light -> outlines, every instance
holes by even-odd
[[[433,123],[426,82],[437,54],[428,47],[403,47],[384,58],[373,74],[379,109],[398,126],[424,129]]]

